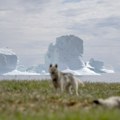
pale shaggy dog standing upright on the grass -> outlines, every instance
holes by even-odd
[[[71,88],[75,90],[76,95],[78,95],[78,86],[79,83],[82,85],[83,82],[80,81],[78,78],[74,77],[71,73],[63,73],[58,70],[58,65],[52,65],[49,66],[49,72],[52,78],[53,85],[55,89],[60,88],[61,92],[64,90],[68,91],[70,94],[72,94]]]

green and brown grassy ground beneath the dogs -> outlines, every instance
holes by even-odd
[[[0,120],[119,120],[119,109],[91,101],[120,96],[120,84],[86,83],[80,96],[55,93],[50,81],[0,81]]]

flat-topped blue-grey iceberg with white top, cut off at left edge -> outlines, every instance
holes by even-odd
[[[16,54],[7,48],[0,49],[0,74],[10,72],[17,66]]]

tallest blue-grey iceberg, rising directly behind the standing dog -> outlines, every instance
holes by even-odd
[[[77,70],[84,66],[82,60],[83,40],[74,35],[66,35],[56,38],[56,42],[51,43],[45,55],[45,65],[58,64],[60,70],[67,68]]]

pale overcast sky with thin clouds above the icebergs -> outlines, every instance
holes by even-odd
[[[43,63],[48,45],[69,34],[84,41],[85,61],[120,67],[120,0],[0,0],[0,48],[22,65]]]

